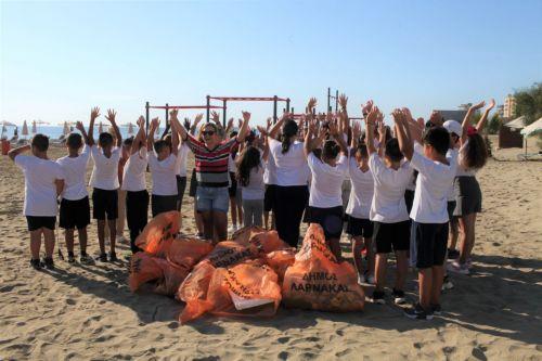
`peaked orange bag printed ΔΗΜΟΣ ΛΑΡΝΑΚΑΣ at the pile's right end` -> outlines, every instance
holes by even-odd
[[[325,244],[322,227],[311,223],[295,262],[282,285],[286,307],[321,311],[361,311],[365,295],[357,272],[347,261],[337,262]]]

